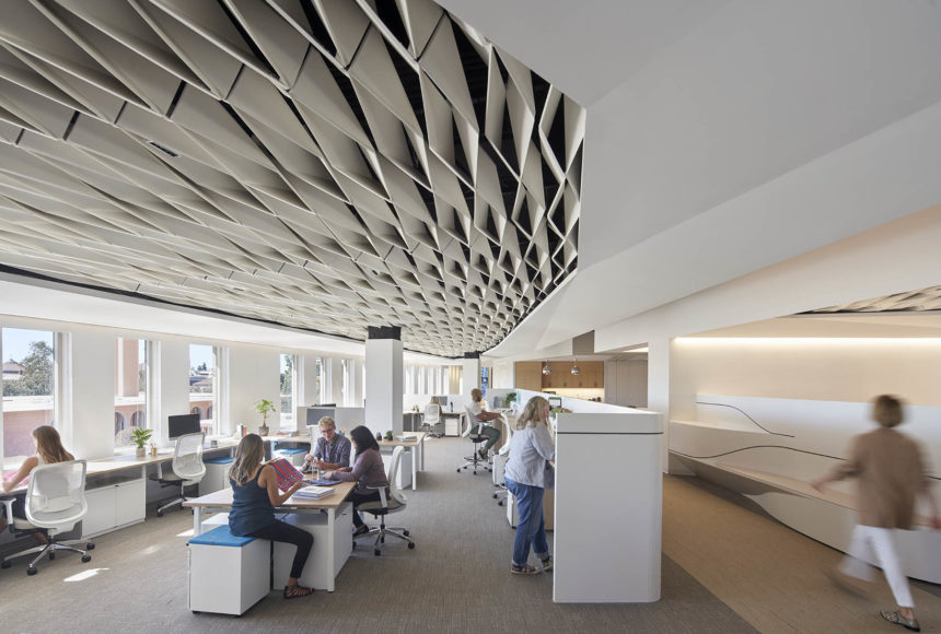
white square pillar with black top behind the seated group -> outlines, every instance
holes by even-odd
[[[402,435],[402,328],[369,328],[365,342],[365,426],[373,434]]]

